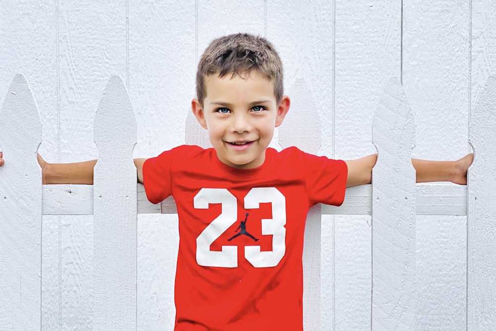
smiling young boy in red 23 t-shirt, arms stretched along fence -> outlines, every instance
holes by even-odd
[[[347,186],[371,183],[376,155],[340,161],[268,148],[290,99],[279,56],[263,38],[214,40],[199,62],[196,92],[191,109],[213,148],[183,145],[134,160],[148,199],[173,195],[177,203],[175,330],[303,330],[308,209],[340,205]],[[471,161],[412,163],[418,182],[466,184]],[[44,183],[93,182],[95,160],[39,162]]]

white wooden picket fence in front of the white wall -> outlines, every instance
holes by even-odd
[[[296,82],[291,95],[293,111],[279,130],[279,143],[317,153],[320,123],[316,107],[309,107],[304,80]],[[320,330],[322,214],[372,215],[372,330],[415,328],[416,214],[467,215],[467,330],[496,330],[495,124],[496,78],[490,77],[471,115],[475,158],[468,185],[415,184],[412,112],[399,81],[389,81],[373,121],[378,151],[373,184],[348,189],[340,207],[317,205],[309,212],[305,330]],[[187,143],[205,145],[205,133],[192,118],[186,128]],[[41,329],[42,215],[93,214],[94,329],[134,330],[136,214],[176,213],[176,207],[172,199],[151,204],[143,186],[136,186],[136,122],[123,81],[110,79],[96,113],[99,161],[93,186],[41,185],[36,159],[41,129],[29,85],[16,75],[0,113],[0,142],[8,161],[0,168],[0,329]]]

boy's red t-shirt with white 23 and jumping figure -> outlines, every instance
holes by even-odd
[[[311,206],[340,205],[344,161],[296,147],[239,170],[179,146],[143,165],[147,198],[179,215],[176,331],[303,330],[303,239]]]

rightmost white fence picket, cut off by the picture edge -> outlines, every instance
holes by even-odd
[[[496,330],[496,77],[471,115],[468,173],[467,330]]]

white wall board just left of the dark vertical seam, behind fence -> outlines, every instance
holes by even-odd
[[[353,159],[377,152],[372,119],[388,77],[401,76],[402,9],[395,0],[334,2],[335,157]],[[368,223],[366,216],[336,218],[336,330],[370,329]]]

